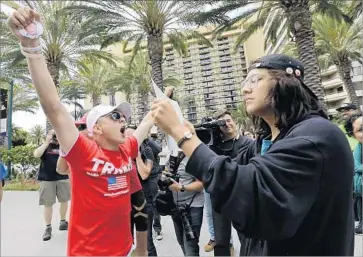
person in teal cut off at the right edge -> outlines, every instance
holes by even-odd
[[[357,207],[358,226],[355,233],[362,234],[362,143],[363,143],[363,117],[362,113],[351,115],[345,123],[345,130],[348,136],[358,140],[358,144],[353,151],[354,157],[354,201]]]

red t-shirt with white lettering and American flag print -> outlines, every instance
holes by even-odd
[[[64,157],[72,179],[69,256],[129,254],[130,174],[137,154],[135,137],[127,138],[120,151],[109,151],[80,135]]]

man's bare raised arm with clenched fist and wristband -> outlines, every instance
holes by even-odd
[[[39,14],[29,7],[22,7],[9,17],[8,25],[22,46],[43,111],[57,134],[62,150],[68,152],[78,137],[78,130],[71,115],[59,99],[45,58],[41,51],[36,49],[40,46],[40,40],[23,37],[18,31],[27,27],[34,20],[41,22]]]

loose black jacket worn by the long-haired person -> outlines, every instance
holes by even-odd
[[[264,255],[353,255],[354,168],[343,132],[310,116],[263,156],[255,149],[232,161],[202,144],[187,171],[204,182],[216,211],[239,232],[266,240]]]

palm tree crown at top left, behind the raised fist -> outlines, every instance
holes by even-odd
[[[65,74],[74,72],[81,56],[113,61],[112,55],[98,50],[97,47],[99,46],[95,42],[79,38],[82,33],[82,19],[71,19],[68,14],[62,11],[65,7],[72,5],[72,2],[50,0],[20,2],[37,10],[42,16],[45,28],[41,43],[49,73],[56,87],[59,87],[60,84],[60,72]],[[14,9],[20,7],[15,1],[6,1],[5,4]],[[11,36],[9,35],[9,37]],[[10,41],[10,39],[8,40]],[[14,52],[21,56],[18,44],[16,44]]]

